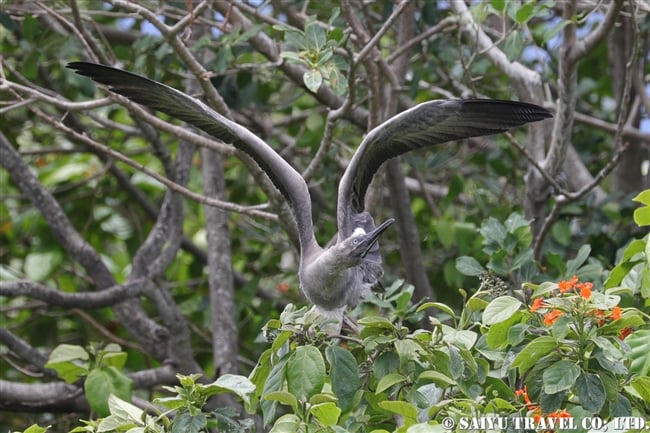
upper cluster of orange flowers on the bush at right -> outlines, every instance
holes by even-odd
[[[561,304],[558,302],[551,302],[550,298],[544,298],[544,296],[539,296],[533,300],[533,303],[530,306],[531,312],[538,312],[543,314],[543,322],[546,326],[553,325],[561,316],[568,312],[566,305],[574,307],[576,302],[579,299],[589,301],[592,298],[593,283],[591,282],[580,282],[577,276],[571,277],[569,280],[562,280],[557,283],[557,292],[550,291],[551,298],[557,300],[559,297],[565,297],[567,300],[571,300],[571,303]],[[583,304],[585,305],[585,304]],[[598,326],[602,326],[608,321],[615,321],[621,318],[621,307],[618,305],[613,306],[611,309],[603,310],[599,308],[589,308],[589,305],[585,305],[587,308],[585,311],[587,316],[591,316],[595,319]],[[630,328],[625,328],[619,334],[619,338],[624,339],[627,337],[632,330]]]

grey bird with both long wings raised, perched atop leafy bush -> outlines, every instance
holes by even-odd
[[[370,130],[353,154],[338,187],[335,242],[321,247],[314,236],[307,184],[284,158],[247,128],[197,98],[111,66],[71,62],[77,74],[126,98],[180,119],[250,155],[287,200],[300,244],[300,288],[314,309],[342,319],[383,275],[379,237],[393,224],[375,225],[365,196],[381,165],[404,153],[447,141],[502,133],[551,117],[535,104],[496,99],[444,99],[415,105]]]

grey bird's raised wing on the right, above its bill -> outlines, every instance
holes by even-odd
[[[362,212],[368,185],[390,158],[447,141],[504,132],[551,117],[543,107],[491,99],[436,100],[406,110],[371,130],[339,185],[338,224],[343,236],[350,215]]]

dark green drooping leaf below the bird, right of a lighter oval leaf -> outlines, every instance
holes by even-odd
[[[348,412],[353,409],[354,396],[361,388],[357,361],[348,350],[339,346],[328,346],[325,356],[330,364],[332,391],[339,400],[340,408]]]

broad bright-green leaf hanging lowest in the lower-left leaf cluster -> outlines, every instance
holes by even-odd
[[[107,416],[108,398],[114,395],[121,400],[131,400],[133,381],[115,367],[92,370],[84,382],[84,392],[90,408],[99,416]]]

